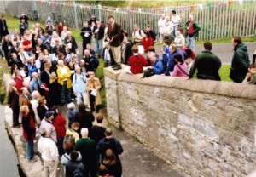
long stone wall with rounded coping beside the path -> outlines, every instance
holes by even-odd
[[[104,70],[108,119],[187,176],[256,169],[256,87]]]

